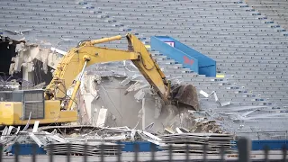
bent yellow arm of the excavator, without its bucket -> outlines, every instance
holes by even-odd
[[[89,67],[95,63],[131,60],[163,101],[167,104],[171,103],[170,84],[157,65],[157,62],[136,36],[128,33],[126,39],[128,40],[127,50],[107,49],[94,46],[94,44],[107,41],[121,40],[120,35],[100,40],[82,41],[76,48],[70,49],[58,64],[52,81],[46,87],[45,98],[48,100],[63,99],[66,96],[67,88],[74,83],[76,85],[67,104],[67,109],[70,109],[80,86],[80,80],[85,67]],[[75,78],[79,74],[80,76],[75,82]],[[192,106],[194,107],[194,105]]]

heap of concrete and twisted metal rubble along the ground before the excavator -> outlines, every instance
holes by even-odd
[[[201,136],[198,132],[206,132],[207,135],[213,137],[229,137],[230,139],[233,137],[224,130],[220,130],[219,125],[217,125],[215,121],[209,121],[206,117],[197,117],[197,115],[193,114],[193,111],[184,111],[178,118],[180,118],[180,120],[175,117],[170,122],[171,127],[164,128],[162,131],[154,130],[153,127],[155,123],[150,123],[146,128],[141,130],[136,129],[139,123],[133,128],[127,126],[109,127],[104,125],[102,127],[94,127],[91,125],[38,127],[39,122],[36,121],[34,127],[31,129],[28,129],[28,123],[23,130],[20,130],[20,127],[14,128],[13,126],[6,126],[4,130],[2,130],[0,142],[4,145],[4,151],[6,152],[9,152],[9,148],[16,142],[19,144],[35,143],[39,148],[47,150],[48,153],[50,150],[53,150],[54,154],[59,155],[64,155],[67,152],[67,143],[70,144],[71,154],[73,155],[83,155],[85,144],[88,145],[88,155],[99,155],[100,146],[104,144],[108,146],[104,150],[106,151],[104,152],[105,155],[116,155],[117,144],[122,141],[133,142],[144,140],[154,143],[165,150],[167,144],[166,138],[170,136],[178,137],[185,134],[187,136],[191,134],[193,134],[193,136]],[[207,138],[202,139],[202,141],[207,141]],[[51,148],[51,144],[53,144],[53,149],[49,149]],[[194,148],[192,150],[194,150]],[[191,152],[196,153],[195,151]]]

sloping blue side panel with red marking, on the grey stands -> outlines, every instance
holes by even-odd
[[[151,37],[151,49],[156,49],[157,51],[165,54],[168,58],[175,59],[175,61],[178,61],[182,65],[184,65],[187,68],[190,68],[196,73],[199,73],[198,68],[198,60],[196,58],[193,58],[187,54],[185,54],[183,51],[179,49],[175,49],[168,44],[166,44],[164,41],[171,41],[169,38],[163,38],[161,40],[157,39],[157,37]],[[191,64],[193,62],[193,64]]]

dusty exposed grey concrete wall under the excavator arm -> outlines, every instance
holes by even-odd
[[[137,129],[141,129],[139,111],[142,107],[142,103],[138,103],[134,99],[134,94],[136,94],[136,92],[124,95],[126,88],[128,88],[129,85],[119,85],[121,80],[122,79],[117,79],[115,77],[111,77],[110,79],[103,78],[102,83],[100,85],[96,85],[100,97],[97,100],[94,100],[90,107],[87,105],[89,103],[85,102],[87,103],[86,109],[87,111],[90,111],[91,114],[90,121],[97,121],[99,110],[103,106],[103,108],[108,109],[107,126],[128,126],[130,128],[134,128],[139,121]],[[162,108],[160,116],[156,118],[155,114],[157,114],[157,110],[155,103],[154,97],[147,95],[145,101],[145,125],[155,122],[155,130],[163,130],[163,125],[166,126],[169,119],[171,119],[172,116],[175,117],[172,115],[170,118],[168,110],[170,111],[175,109],[175,107],[170,106]],[[94,108],[97,109],[97,112],[95,113]]]

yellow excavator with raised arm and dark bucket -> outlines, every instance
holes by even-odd
[[[128,40],[127,50],[94,46],[121,40],[121,35],[80,41],[77,47],[70,49],[58,63],[51,82],[44,90],[0,92],[0,124],[25,125],[33,124],[34,121],[40,121],[40,124],[77,121],[77,111],[71,110],[71,107],[75,102],[85,67],[95,63],[121,60],[131,60],[165,104],[184,104],[195,110],[199,109],[193,85],[172,86],[145,45],[133,34],[128,33],[125,37]],[[69,97],[67,89],[71,85],[74,85],[74,89]]]

